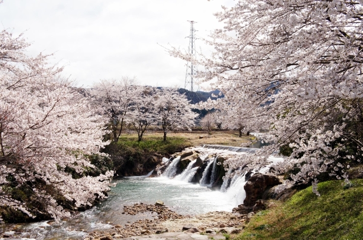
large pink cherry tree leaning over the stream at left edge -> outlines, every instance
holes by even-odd
[[[27,47],[22,35],[1,31],[0,206],[65,217],[65,205],[87,208],[109,190],[112,171],[86,174],[94,168],[87,156],[108,144],[105,120],[70,81],[57,78],[61,68],[49,66],[46,55],[28,57]]]

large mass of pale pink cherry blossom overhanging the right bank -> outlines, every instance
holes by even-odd
[[[274,144],[252,164],[280,149],[288,157],[275,169],[298,168],[295,183],[325,172],[347,179],[363,158],[362,1],[239,0],[216,16],[225,27],[207,41],[211,57],[170,50],[205,66],[200,78],[225,94],[203,106],[269,129]]]

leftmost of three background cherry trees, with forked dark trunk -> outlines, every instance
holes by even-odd
[[[107,116],[114,142],[118,142],[130,109],[143,93],[144,87],[137,84],[136,78],[101,80],[90,90],[95,108]]]

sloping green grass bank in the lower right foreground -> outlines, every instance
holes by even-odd
[[[362,240],[363,180],[318,184],[259,212],[234,240]]]

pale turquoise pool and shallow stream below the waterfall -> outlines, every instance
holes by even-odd
[[[216,149],[206,150],[218,151]],[[253,151],[251,148],[236,149],[235,147],[233,150]],[[229,151],[229,149],[219,150],[220,153]],[[274,161],[276,159],[274,158]],[[277,160],[280,161],[281,159]],[[212,164],[210,165],[212,166]],[[156,200],[162,200],[166,206],[179,214],[194,215],[211,211],[231,212],[233,207],[243,203],[245,198],[243,189],[245,179],[243,175],[230,179],[229,186],[222,186],[220,191],[211,190],[207,186],[201,186],[200,184],[189,183],[185,179],[187,178],[175,177],[174,179],[169,179],[165,176],[114,179],[113,182],[116,185],[111,188],[106,200],[90,210],[77,213],[70,219],[58,223],[54,221],[41,221],[18,225],[1,224],[1,227],[3,230],[15,228],[15,232],[7,232],[7,234],[14,237],[13,239],[77,239],[85,237],[87,232],[93,230],[111,228],[111,224],[124,225],[138,219],[152,219],[156,216],[155,213],[154,215],[145,213],[135,216],[122,214],[124,206],[133,205],[134,203],[154,204]]]

